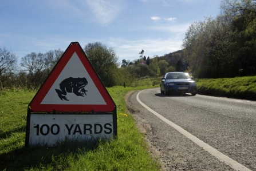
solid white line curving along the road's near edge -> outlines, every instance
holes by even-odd
[[[143,91],[141,91],[141,92],[143,92]],[[199,145],[201,148],[206,150],[208,153],[212,154],[212,156],[218,158],[218,160],[220,160],[222,162],[225,162],[225,164],[229,165],[231,168],[233,168],[235,170],[239,170],[239,171],[241,171],[241,170],[248,170],[249,171],[250,170],[250,169],[246,168],[246,166],[243,166],[243,165],[239,164],[237,161],[234,161],[232,158],[230,158],[230,157],[226,156],[225,154],[219,152],[218,150],[216,150],[212,146],[206,144],[205,142],[203,142],[199,138],[193,136],[191,133],[189,133],[186,130],[184,130],[183,128],[181,128],[180,126],[174,124],[174,122],[171,122],[171,121],[167,120],[167,118],[164,118],[162,115],[155,112],[154,110],[149,108],[147,105],[143,104],[143,102],[141,102],[140,99],[139,99],[139,94],[141,92],[139,92],[137,94],[136,99],[149,112],[155,114],[155,116],[159,117],[162,121],[164,121],[168,125],[172,126],[172,128],[178,130],[178,132],[182,133],[184,136],[189,138],[191,141],[195,142],[195,144]]]

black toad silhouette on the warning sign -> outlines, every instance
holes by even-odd
[[[68,101],[68,98],[66,98],[66,93],[74,93],[76,94],[76,96],[82,96],[85,94],[86,92],[88,92],[87,90],[84,89],[84,87],[88,84],[88,81],[86,80],[86,78],[73,78],[73,77],[69,77],[64,79],[61,83],[60,83],[60,89],[55,89],[58,97],[60,97],[61,100],[66,100]],[[82,92],[82,93],[81,93]]]

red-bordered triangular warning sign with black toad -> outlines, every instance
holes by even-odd
[[[72,42],[29,106],[33,112],[113,112],[116,105],[82,47]]]

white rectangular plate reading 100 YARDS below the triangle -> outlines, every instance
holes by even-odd
[[[29,145],[55,146],[65,137],[73,140],[113,137],[112,114],[31,114]]]

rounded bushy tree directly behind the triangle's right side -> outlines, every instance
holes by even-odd
[[[101,42],[94,42],[85,45],[84,51],[104,85],[114,86],[117,81],[115,72],[119,66],[115,49]]]

